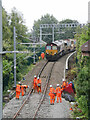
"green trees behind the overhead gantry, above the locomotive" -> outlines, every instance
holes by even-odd
[[[70,20],[66,19],[63,21],[58,21],[53,15],[46,14],[41,17],[38,21],[34,21],[34,29],[35,29],[35,34],[38,37],[40,34],[40,24],[58,24],[58,23],[78,23],[76,20]],[[55,28],[54,29],[54,39],[55,40],[60,40],[60,39],[68,39],[68,38],[74,38],[73,32],[75,32],[76,28]],[[44,28],[42,29],[43,34],[50,33],[52,34],[52,28]],[[65,32],[65,34],[58,34],[58,32]],[[52,35],[43,35],[42,40],[50,43],[52,42]]]

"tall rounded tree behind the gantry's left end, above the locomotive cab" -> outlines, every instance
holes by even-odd
[[[58,20],[53,15],[49,15],[49,14],[46,14],[46,15],[42,16],[39,20],[34,21],[36,37],[39,37],[39,34],[40,34],[40,24],[57,24],[57,23],[58,23]],[[52,29],[45,28],[45,29],[43,29],[43,33],[45,33],[45,34],[52,33]],[[49,43],[52,41],[52,35],[51,36],[50,35],[42,36],[42,40]]]

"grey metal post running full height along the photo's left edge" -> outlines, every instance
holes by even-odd
[[[2,0],[0,0],[0,52],[2,52]],[[2,119],[2,85],[3,85],[3,77],[2,77],[2,54],[0,54],[0,120]]]

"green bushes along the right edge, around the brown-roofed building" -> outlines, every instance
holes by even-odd
[[[77,116],[82,118],[88,118],[88,104],[89,104],[89,92],[90,91],[90,57],[82,57],[81,46],[89,40],[89,29],[87,26],[84,28],[77,28],[76,38],[76,51],[77,51],[77,80],[75,81],[75,88],[77,93],[77,101],[79,103],[79,108],[82,112],[79,114],[76,111]]]

